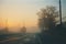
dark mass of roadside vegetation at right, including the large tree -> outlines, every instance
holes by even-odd
[[[66,22],[59,24],[59,11],[56,7],[46,7],[37,12],[40,37],[43,44],[66,44]],[[58,24],[57,24],[58,23]]]

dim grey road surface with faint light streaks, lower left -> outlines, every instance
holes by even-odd
[[[10,37],[0,41],[0,44],[42,44],[41,38],[35,34],[25,34],[18,37]]]

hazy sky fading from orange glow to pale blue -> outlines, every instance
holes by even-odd
[[[65,16],[66,0],[62,0],[62,4]],[[0,18],[2,18],[3,24],[8,18],[9,26],[23,25],[23,22],[26,26],[36,26],[36,13],[46,6],[55,6],[58,9],[58,0],[0,0]]]

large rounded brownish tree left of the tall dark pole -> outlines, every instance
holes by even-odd
[[[37,12],[38,28],[42,31],[53,29],[56,25],[56,18],[58,18],[58,11],[56,7],[46,7]]]

